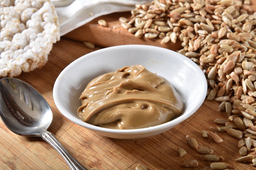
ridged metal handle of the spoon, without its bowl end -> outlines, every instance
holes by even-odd
[[[44,131],[41,133],[41,137],[46,142],[48,142],[50,145],[52,145],[52,147],[55,148],[61,154],[61,156],[64,158],[64,160],[70,166],[70,169],[72,169],[72,170],[87,170],[74,157],[72,157],[67,152],[67,150],[60,144],[60,142],[55,138],[55,136],[51,132]]]

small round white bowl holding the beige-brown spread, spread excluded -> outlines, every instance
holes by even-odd
[[[133,130],[97,127],[78,118],[77,108],[81,106],[78,98],[93,78],[124,66],[139,64],[166,78],[181,95],[184,110],[179,117],[158,126]],[[111,138],[137,139],[165,132],[189,118],[204,102],[206,92],[206,78],[189,58],[156,46],[123,45],[91,52],[69,64],[56,79],[53,98],[59,111],[82,127]]]

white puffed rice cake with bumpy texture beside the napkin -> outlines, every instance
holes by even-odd
[[[0,77],[41,68],[60,26],[50,0],[0,0]]]

